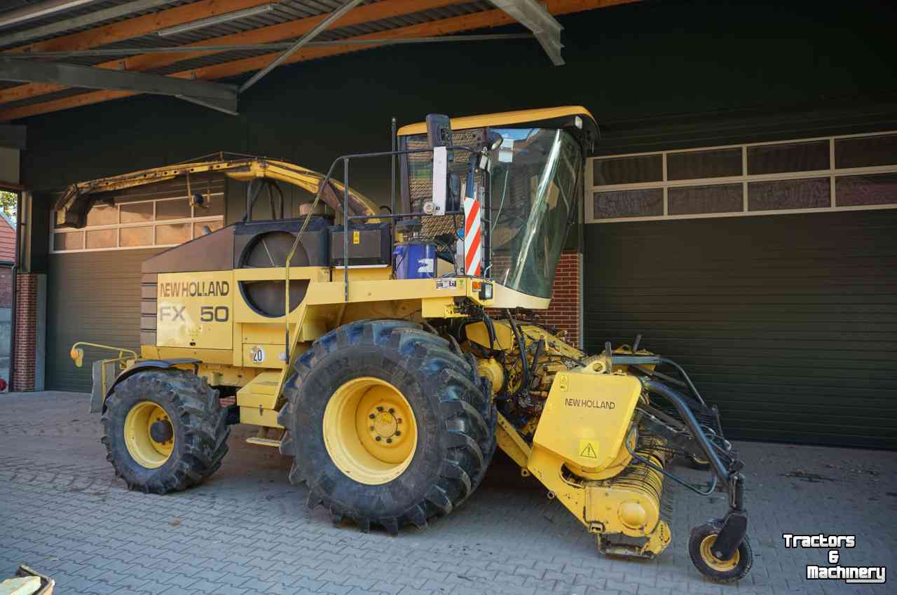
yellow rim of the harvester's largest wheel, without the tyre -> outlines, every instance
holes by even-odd
[[[395,386],[373,376],[343,384],[324,410],[324,444],[336,468],[379,486],[408,468],[417,449],[414,411]]]

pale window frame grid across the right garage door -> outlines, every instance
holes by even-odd
[[[673,149],[670,151],[644,151],[636,153],[621,153],[612,155],[597,155],[590,157],[586,165],[586,184],[584,185],[584,207],[586,223],[622,223],[628,221],[658,221],[658,220],[676,220],[676,219],[706,219],[710,217],[753,217],[761,215],[787,215],[791,213],[803,212],[828,212],[828,211],[875,211],[880,209],[897,209],[897,203],[889,204],[863,204],[853,206],[838,206],[837,195],[835,190],[835,180],[839,177],[859,176],[870,174],[891,174],[897,173],[897,163],[886,166],[874,166],[867,168],[836,168],[835,167],[835,141],[847,138],[862,138],[873,136],[885,136],[889,134],[897,134],[897,130],[867,133],[867,134],[842,134],[837,136],[816,136],[812,138],[788,139],[785,141],[771,142],[747,142],[742,144],[716,145],[710,147],[695,147],[692,149]],[[775,174],[748,174],[747,173],[747,152],[750,147],[770,146],[774,144],[795,144],[800,142],[818,142],[827,141],[829,143],[829,168],[814,169],[796,172],[780,172]],[[727,177],[701,177],[687,180],[669,180],[667,176],[666,160],[667,155],[671,153],[698,152],[698,151],[715,151],[719,149],[741,149],[741,176]],[[595,185],[593,179],[594,161],[603,159],[619,159],[625,157],[643,157],[648,155],[661,155],[663,159],[663,179],[659,182],[637,182],[631,184],[613,184],[613,185]],[[800,180],[818,177],[829,178],[829,198],[830,204],[827,207],[803,208],[803,209],[775,209],[766,211],[748,211],[748,184],[751,182],[768,182],[777,180]],[[713,213],[695,213],[685,215],[669,214],[668,190],[672,187],[679,186],[701,186],[701,185],[725,185],[725,184],[741,184],[742,185],[742,211],[730,212],[713,212]],[[617,217],[613,219],[596,219],[595,218],[595,193],[608,192],[614,190],[646,190],[662,188],[664,192],[664,214],[649,215],[645,217]]]

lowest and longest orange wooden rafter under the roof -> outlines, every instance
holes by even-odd
[[[359,7],[356,10],[361,10],[362,8],[367,8],[368,6],[377,6],[379,4],[386,4],[390,0],[384,0],[383,3],[378,4],[370,4],[364,7]],[[397,0],[396,0],[397,1]],[[567,13],[578,13],[582,11],[592,10],[595,8],[604,8],[607,6],[613,6],[616,4],[628,4],[631,2],[636,2],[637,0],[548,0],[547,8],[552,14],[567,14]],[[407,2],[399,2],[399,4],[405,4],[405,13],[407,13]],[[352,13],[347,13],[344,18],[348,18]],[[302,20],[304,21],[304,19]],[[400,27],[393,30],[386,30],[377,33],[370,33],[367,35],[361,35],[357,37],[353,37],[353,39],[407,39],[407,38],[415,38],[415,37],[423,37],[423,36],[434,36],[434,35],[446,35],[449,33],[457,33],[465,30],[475,30],[475,29],[484,29],[488,27],[497,27],[501,25],[507,25],[515,22],[507,13],[501,10],[492,10],[492,11],[483,11],[481,13],[472,13],[466,14],[463,16],[450,17],[448,19],[440,19],[439,21],[431,21],[425,22],[418,25],[410,25],[407,27]],[[284,23],[288,24],[288,23]],[[280,27],[281,25],[275,25],[275,27]],[[271,29],[271,28],[265,28]],[[232,36],[228,36],[229,38]],[[215,43],[218,43],[223,38],[218,38],[215,40]],[[314,60],[317,58],[327,57],[327,56],[337,56],[341,54],[348,54],[350,52],[361,51],[363,49],[370,49],[372,47],[379,47],[377,45],[370,46],[356,46],[356,45],[345,45],[345,46],[328,46],[328,47],[305,47],[302,48],[299,52],[290,56],[290,59],[286,62],[286,64],[292,64],[296,62],[303,62],[307,60]],[[244,58],[241,60],[235,60],[232,62],[225,62],[219,65],[210,65],[205,66],[203,68],[195,68],[186,71],[181,71],[179,73],[172,73],[170,76],[176,76],[179,78],[196,78],[196,79],[205,79],[205,80],[213,80],[224,78],[228,76],[235,76],[242,73],[248,73],[258,70],[259,68],[264,67],[268,64],[274,56],[278,56],[279,54],[266,54],[263,56],[253,56],[250,58]],[[147,56],[158,56],[158,55],[147,55]],[[183,56],[183,55],[179,55]],[[144,57],[144,56],[137,56]],[[129,91],[93,91],[89,93],[83,93],[81,95],[76,95],[74,97],[64,98],[64,99],[55,99],[51,101],[47,101],[44,103],[33,104],[29,106],[22,106],[20,108],[12,108],[7,109],[5,111],[0,112],[0,121],[9,121],[15,120],[22,117],[28,116],[37,116],[39,114],[46,114],[49,112],[59,111],[62,109],[68,108],[76,108],[86,105],[91,105],[95,103],[100,103],[103,101],[109,101],[111,99],[119,99],[123,97],[128,97],[131,95],[135,95],[136,93]]]

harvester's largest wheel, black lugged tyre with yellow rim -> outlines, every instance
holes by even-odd
[[[334,522],[396,534],[451,513],[495,452],[488,381],[414,323],[346,324],[297,359],[278,421],[290,480]],[[389,441],[389,442],[388,442]]]

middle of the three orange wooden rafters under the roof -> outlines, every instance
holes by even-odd
[[[270,1],[270,0],[268,0]],[[431,8],[439,8],[448,4],[457,4],[457,0],[418,0],[414,4],[415,11],[428,10]],[[192,4],[189,4],[192,5]],[[358,6],[349,13],[335,22],[332,27],[349,27],[364,22],[378,21],[379,19],[387,19],[390,17],[400,16],[408,13],[407,0],[382,0],[377,4],[367,4]],[[283,22],[270,27],[262,27],[260,29],[242,31],[231,35],[213,39],[204,39],[195,43],[187,44],[185,47],[203,46],[220,46],[220,45],[239,45],[239,44],[257,44],[268,43],[271,41],[279,41],[281,39],[290,39],[305,35],[310,30],[327,18],[327,14],[318,14],[306,19],[297,21]],[[155,68],[162,68],[189,60],[199,56],[206,56],[214,52],[196,51],[187,54],[142,54],[140,56],[131,56],[118,60],[109,60],[95,65],[97,68],[112,68],[116,70],[144,71]],[[65,89],[60,85],[51,84],[27,84],[11,87],[0,91],[0,103],[9,103],[10,101],[20,101],[22,99],[30,99],[45,95],[54,91]]]

